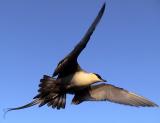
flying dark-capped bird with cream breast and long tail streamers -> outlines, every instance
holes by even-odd
[[[52,76],[43,75],[40,79],[38,94],[33,101],[16,108],[8,108],[6,112],[20,110],[34,105],[47,105],[54,109],[65,109],[67,94],[74,95],[72,104],[78,105],[85,101],[110,101],[135,107],[158,107],[154,102],[127,91],[123,88],[108,84],[97,73],[90,73],[82,69],[78,63],[78,56],[86,47],[96,26],[105,11],[104,3],[91,26],[74,47],[57,65]]]

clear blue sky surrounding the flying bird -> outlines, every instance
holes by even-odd
[[[10,112],[37,94],[81,39],[104,0],[0,0],[1,123],[159,123],[157,108],[85,102],[65,110],[37,106]],[[106,0],[106,11],[79,63],[108,83],[160,104],[160,1]]]

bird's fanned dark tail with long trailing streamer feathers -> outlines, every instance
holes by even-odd
[[[39,104],[39,107],[47,104],[48,106],[52,106],[52,108],[64,109],[66,105],[66,93],[57,80],[44,75],[40,82],[39,94],[33,98],[32,102],[20,107],[5,109],[4,116],[9,111],[20,110],[37,104]]]

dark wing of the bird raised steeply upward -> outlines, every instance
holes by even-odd
[[[100,19],[102,18],[102,15],[105,10],[105,3],[103,4],[102,8],[100,9],[97,17],[91,24],[90,28],[84,35],[84,37],[81,39],[81,41],[75,46],[75,48],[64,58],[62,59],[55,69],[53,73],[53,77],[59,74],[65,74],[65,72],[68,73],[68,68],[70,69],[69,72],[75,71],[79,68],[79,65],[77,63],[77,57],[81,53],[81,51],[86,47],[92,33],[94,32],[97,24],[99,23]]]

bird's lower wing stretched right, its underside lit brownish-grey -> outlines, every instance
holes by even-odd
[[[79,92],[73,98],[72,103],[79,104],[83,101],[105,101],[105,100],[136,107],[158,106],[142,96],[136,95],[132,92],[129,92],[127,90],[109,84],[93,85],[90,88],[84,90],[82,93]]]

